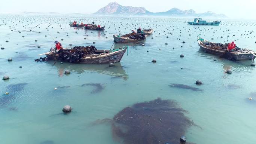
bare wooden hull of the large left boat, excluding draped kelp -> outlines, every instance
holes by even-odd
[[[76,63],[84,63],[84,64],[103,64],[103,63],[114,63],[120,62],[124,53],[128,46],[124,46],[122,49],[116,49],[113,51],[110,50],[95,50],[94,55],[83,55],[80,61],[75,61]],[[64,49],[64,50],[72,50],[72,49]],[[49,60],[61,61],[59,58],[60,53],[48,52],[45,53]],[[68,62],[68,61],[66,61]]]

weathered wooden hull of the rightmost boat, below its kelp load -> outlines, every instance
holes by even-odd
[[[210,44],[214,44],[214,43],[210,43]],[[201,50],[203,50],[204,52],[216,55],[216,56],[221,56],[223,58],[226,59],[230,59],[232,57],[233,60],[235,61],[240,61],[240,60],[252,60],[255,59],[255,57],[253,57],[252,53],[256,54],[256,52],[251,51],[252,53],[249,52],[229,52],[227,53],[225,49],[218,49],[218,48],[214,48],[208,45],[205,45],[204,43],[202,43],[201,41],[198,41],[198,45],[200,47]]]

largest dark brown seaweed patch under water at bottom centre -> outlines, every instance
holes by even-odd
[[[126,107],[113,120],[92,124],[112,123],[113,138],[124,144],[179,144],[186,130],[196,126],[184,113],[176,102],[158,98]]]

